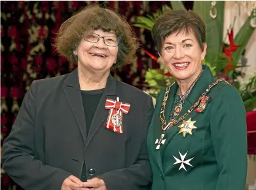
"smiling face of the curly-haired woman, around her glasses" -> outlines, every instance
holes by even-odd
[[[94,31],[101,37],[116,37],[115,32],[105,32],[101,29]],[[107,46],[101,38],[98,42],[81,40],[77,50],[73,51],[78,57],[78,65],[92,72],[109,72],[113,64],[117,62],[118,46]]]

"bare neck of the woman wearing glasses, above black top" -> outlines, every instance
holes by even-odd
[[[78,65],[78,76],[81,90],[94,90],[106,87],[110,71],[91,72]]]

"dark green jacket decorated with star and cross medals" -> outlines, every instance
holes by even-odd
[[[203,69],[179,117],[216,81],[209,67],[203,65]],[[170,89],[166,119],[177,88],[175,83]],[[196,121],[197,128],[192,129],[192,135],[187,133],[183,137],[183,133],[178,133],[180,121],[166,131],[165,143],[156,150],[156,139],[162,134],[159,115],[165,91],[163,89],[158,95],[147,136],[153,169],[152,190],[243,190],[247,172],[246,110],[236,88],[224,81],[212,87],[207,94],[211,100],[204,112],[193,110],[184,119]],[[183,156],[187,171],[179,163]]]

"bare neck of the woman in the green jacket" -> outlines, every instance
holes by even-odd
[[[177,84],[179,85],[179,89],[181,89],[181,95],[184,95],[187,92],[187,90],[189,89],[189,87],[191,87],[193,82],[196,81],[201,71],[202,71],[202,67],[200,67],[200,69],[198,69],[194,74],[192,74],[191,77],[185,80],[178,80],[178,79],[176,80]]]

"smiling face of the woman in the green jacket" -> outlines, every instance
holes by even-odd
[[[161,59],[177,80],[193,80],[202,70],[201,61],[206,55],[192,32],[183,31],[169,35],[162,43]]]

